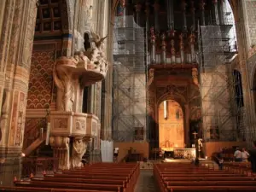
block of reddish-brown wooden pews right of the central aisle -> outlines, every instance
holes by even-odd
[[[255,177],[191,163],[155,164],[154,178],[161,192],[256,191]]]

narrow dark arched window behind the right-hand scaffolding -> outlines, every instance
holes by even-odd
[[[242,96],[242,85],[241,85],[241,73],[237,70],[233,72],[234,83],[235,83],[235,102],[236,107],[241,108],[244,106],[243,96]]]

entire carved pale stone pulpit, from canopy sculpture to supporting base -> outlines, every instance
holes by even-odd
[[[82,113],[84,87],[102,81],[108,71],[102,49],[104,38],[93,39],[89,50],[55,61],[57,99],[56,111],[50,112],[49,144],[59,158],[60,169],[81,166],[91,137],[98,134],[96,115]]]

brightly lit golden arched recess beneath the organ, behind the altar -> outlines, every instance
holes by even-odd
[[[173,100],[159,106],[159,145],[168,151],[184,147],[183,109]]]

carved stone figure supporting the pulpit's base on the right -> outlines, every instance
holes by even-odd
[[[73,140],[71,167],[83,166],[81,160],[86,152],[89,140],[83,137],[75,137]]]

